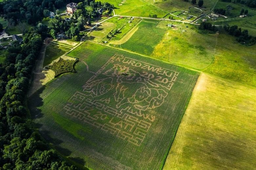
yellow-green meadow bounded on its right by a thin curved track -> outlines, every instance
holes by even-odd
[[[168,23],[174,27],[167,27]],[[167,31],[152,57],[198,70],[213,61],[216,35],[199,34],[195,26],[178,22],[160,21],[156,27]]]

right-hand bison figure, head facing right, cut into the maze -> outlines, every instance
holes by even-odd
[[[140,87],[138,89],[135,86]],[[145,83],[142,82],[122,82],[116,87],[114,93],[115,101],[118,102],[116,107],[119,108],[127,103],[133,104],[136,109],[147,110],[160,106],[167,93],[162,89],[148,88]]]

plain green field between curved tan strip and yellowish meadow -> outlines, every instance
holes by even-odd
[[[121,45],[121,48],[144,55],[151,55],[154,47],[160,42],[165,33],[164,29],[155,28],[157,23],[158,21],[154,20],[140,22],[138,30],[126,43]]]

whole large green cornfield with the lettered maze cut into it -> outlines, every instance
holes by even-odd
[[[44,138],[81,167],[161,169],[198,73],[90,42],[68,55],[77,73],[29,100]]]

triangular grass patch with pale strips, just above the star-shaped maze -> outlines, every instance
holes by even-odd
[[[44,66],[47,66],[56,60],[61,55],[65,54],[65,52],[71,50],[73,47],[68,44],[58,43],[53,41],[49,46],[46,48],[45,58],[44,58]]]

